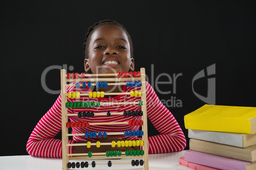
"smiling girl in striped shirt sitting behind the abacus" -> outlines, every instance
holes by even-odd
[[[89,28],[84,43],[85,72],[93,74],[117,73],[134,71],[134,58],[132,58],[133,48],[131,36],[120,23],[112,20],[103,20],[95,23]],[[82,82],[81,82],[82,84]],[[81,85],[82,86],[82,85]],[[76,86],[68,86],[67,93],[80,91],[80,93],[89,93],[89,91],[105,91],[105,92],[129,92],[138,91],[140,88],[127,86],[108,86],[107,88],[76,88]],[[75,101],[103,101],[103,102],[124,102],[138,101],[141,98],[131,97],[130,95],[105,96],[104,98],[89,98],[82,96],[81,98],[68,98],[68,102]],[[159,131],[160,135],[148,137],[149,154],[177,152],[183,150],[186,146],[185,136],[173,117],[171,112],[167,110],[159,98],[155,94],[153,88],[146,82],[146,107],[148,119],[153,126]],[[88,108],[90,112],[124,112],[128,110],[141,110],[139,105],[102,105],[101,107]],[[78,114],[85,111],[85,108],[68,108],[68,114]],[[71,122],[89,121],[89,122],[124,122],[131,120],[141,120],[141,117],[124,115],[111,115],[106,119],[106,115],[95,115],[94,117],[69,117]],[[89,126],[89,128],[73,128],[72,133],[85,133],[85,131],[111,131],[124,132],[138,130],[138,126],[127,125],[108,125],[108,126]],[[36,125],[27,141],[27,152],[37,157],[62,157],[61,140],[54,139],[54,136],[61,129],[61,96],[57,98],[54,105]],[[117,141],[117,138],[125,140],[136,140],[136,136],[119,135],[116,137],[101,138],[101,142]],[[86,141],[99,140],[99,138],[85,138],[85,136],[73,136],[73,140],[69,143],[81,143]],[[127,148],[118,148],[118,150],[129,150]],[[136,149],[136,148],[135,148]],[[88,152],[87,147],[69,147],[69,153],[85,153]],[[94,148],[90,148],[90,151]],[[101,150],[109,150],[108,146],[101,146]],[[111,150],[111,149],[110,149]],[[113,150],[113,149],[112,149]],[[93,151],[92,151],[93,152]]]

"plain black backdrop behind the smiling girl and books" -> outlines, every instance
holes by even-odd
[[[161,91],[171,91],[169,95],[155,91],[160,100],[175,97],[182,102],[182,107],[167,108],[186,137],[183,116],[205,104],[194,95],[192,79],[212,64],[217,105],[256,107],[255,1],[44,0],[1,1],[0,6],[0,155],[27,154],[29,135],[58,96],[43,89],[41,74],[47,67],[64,64],[83,72],[84,36],[90,25],[103,19],[127,28],[136,70],[145,67],[150,83],[162,73],[182,74],[176,94],[173,84],[159,85]],[[60,89],[59,70],[46,74],[46,85]],[[206,78],[194,86],[197,93],[207,95]],[[152,125],[149,131],[150,136],[157,134]]]

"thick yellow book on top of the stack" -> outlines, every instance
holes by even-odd
[[[185,115],[185,128],[229,133],[256,133],[256,107],[203,105]]]

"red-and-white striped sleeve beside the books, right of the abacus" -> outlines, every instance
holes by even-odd
[[[186,147],[186,138],[173,114],[160,102],[152,86],[146,82],[148,119],[159,135],[148,137],[148,154],[177,152]]]

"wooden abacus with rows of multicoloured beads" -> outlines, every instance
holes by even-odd
[[[115,78],[102,78],[104,76],[114,76]],[[89,77],[89,78],[88,78]],[[94,77],[94,78],[91,78]],[[67,170],[71,168],[78,167],[96,167],[96,165],[104,165],[111,167],[112,164],[131,164],[132,166],[144,166],[145,170],[148,170],[148,129],[147,129],[147,115],[146,115],[146,79],[145,79],[145,69],[141,68],[140,72],[118,72],[117,74],[78,74],[78,73],[68,73],[66,70],[60,70],[60,81],[61,81],[61,104],[62,104],[62,169]],[[69,82],[69,84],[67,84]],[[75,83],[76,82],[76,83]],[[79,82],[82,82],[79,83]],[[76,86],[76,88],[90,88],[96,86],[97,88],[107,87],[108,85],[125,85],[131,87],[141,87],[141,91],[130,91],[129,93],[104,93],[103,91],[90,91],[89,93],[73,92],[67,93],[67,86]],[[89,96],[89,98],[103,98],[105,95],[131,95],[141,96],[141,100],[138,102],[67,102],[67,98],[80,98],[80,96]],[[124,111],[112,113],[110,111],[106,113],[94,113],[94,112],[78,112],[78,114],[68,114],[68,108],[87,108],[87,107],[100,107],[101,105],[131,105],[138,104],[141,110],[138,111]],[[128,121],[128,122],[69,122],[69,116],[78,117],[94,117],[95,115],[106,115],[106,119],[111,115],[124,115],[124,116],[141,116],[141,121]],[[85,136],[85,138],[104,138],[106,137],[106,132],[88,132],[81,134],[69,134],[68,128],[88,128],[90,125],[103,125],[103,124],[128,124],[129,126],[141,126],[142,130],[139,131],[124,131],[122,132],[108,132],[108,135],[118,135],[124,134],[124,136],[142,136],[142,140],[122,140],[122,141],[112,141],[111,143],[100,143],[99,141],[87,143],[73,143],[69,144],[69,136]],[[141,150],[126,150],[125,152],[119,151],[107,151],[106,153],[83,153],[83,154],[69,154],[69,146],[96,146],[100,148],[101,145],[111,145],[111,147],[135,147],[140,146]],[[118,159],[123,159],[127,156],[134,157],[135,159],[141,158],[141,160],[131,160],[131,162],[112,162],[113,156],[117,156]],[[85,160],[84,162],[69,162],[69,160]],[[105,160],[106,163],[97,164],[96,161],[90,162],[91,159],[101,159]],[[107,160],[111,159],[111,160]],[[115,160],[115,159],[114,159]]]

